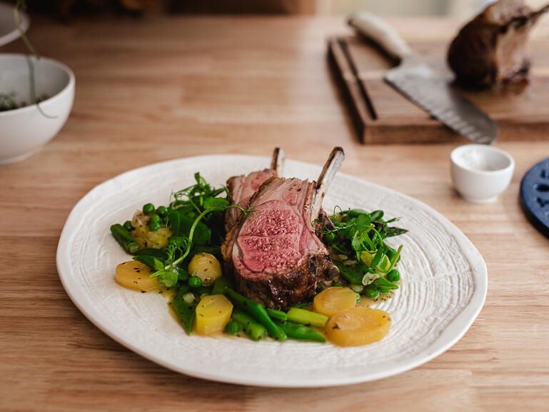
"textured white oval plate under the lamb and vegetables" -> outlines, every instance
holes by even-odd
[[[168,204],[171,191],[264,169],[269,159],[200,156],[129,171],[100,184],[74,206],[57,250],[59,277],[72,301],[95,325],[132,351],[198,378],[256,386],[335,386],[408,371],[463,336],[482,308],[486,266],[468,238],[429,206],[383,186],[338,174],[324,207],[336,205],[401,216],[409,232],[399,269],[403,285],[383,303],[391,331],[383,341],[357,348],[329,343],[187,336],[168,312],[166,298],[118,286],[114,269],[129,260],[109,226],[126,221],[148,201]],[[321,161],[321,159],[319,159]],[[319,166],[287,161],[284,176],[314,179]]]

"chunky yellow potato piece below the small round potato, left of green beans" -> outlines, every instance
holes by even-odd
[[[231,320],[233,303],[223,295],[207,295],[196,306],[196,332],[209,335],[223,331]]]

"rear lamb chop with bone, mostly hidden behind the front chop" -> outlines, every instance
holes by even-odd
[[[230,203],[246,208],[248,202],[259,187],[273,176],[280,176],[286,161],[286,154],[283,149],[277,147],[273,151],[271,169],[253,171],[251,174],[233,176],[227,181],[227,189]],[[237,208],[229,208],[225,213],[225,231],[230,231],[240,218],[242,212]]]

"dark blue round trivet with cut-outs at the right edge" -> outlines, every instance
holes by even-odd
[[[524,175],[520,199],[528,220],[549,238],[549,159],[540,161]]]

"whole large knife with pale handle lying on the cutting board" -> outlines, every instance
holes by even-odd
[[[470,141],[478,144],[495,141],[498,126],[494,121],[420,61],[401,35],[385,21],[361,12],[351,16],[348,24],[399,61],[398,66],[383,76],[396,91]]]

